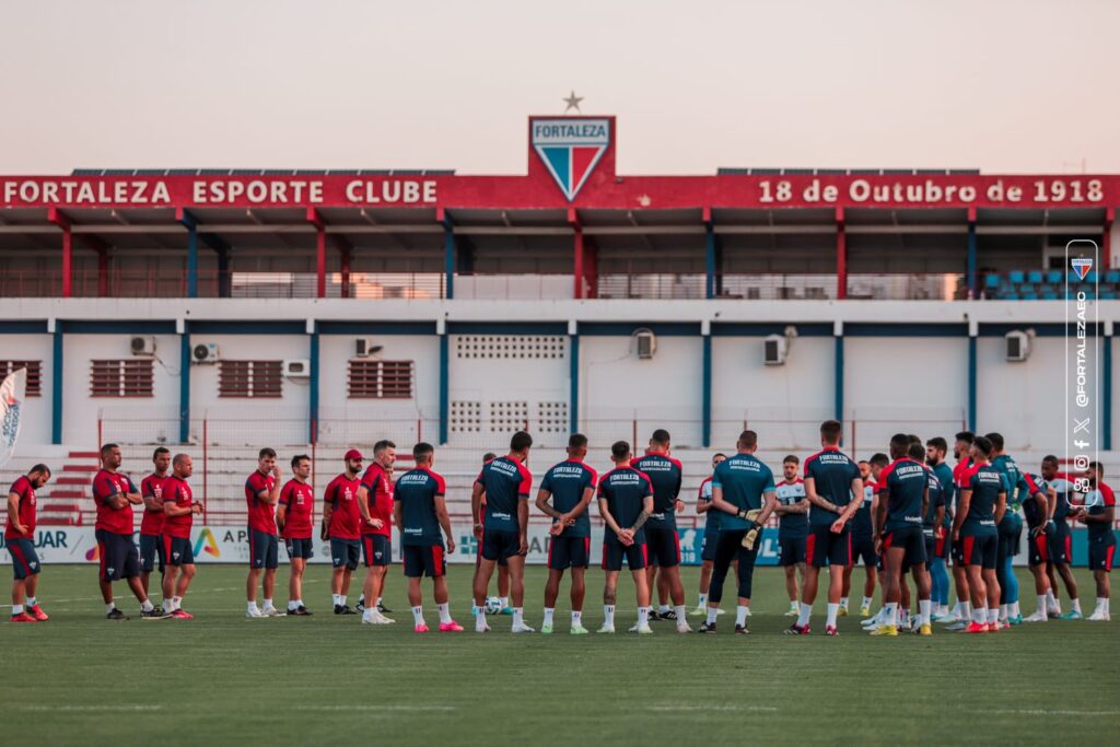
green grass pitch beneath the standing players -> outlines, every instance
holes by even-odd
[[[1049,622],[995,636],[935,625],[933,638],[870,638],[847,617],[839,638],[791,638],[781,635],[790,620],[780,571],[765,568],[749,636],[730,635],[727,615],[718,636],[681,636],[671,623],[627,635],[626,578],[614,636],[568,635],[567,585],[552,636],[511,635],[508,617],[480,636],[470,631],[472,570],[452,566],[449,576],[452,614],[468,632],[420,636],[399,567],[385,597],[398,624],[381,627],[330,614],[323,566],[308,570],[304,595],[314,617],[253,620],[245,569],[200,566],[184,605],[193,622],[106,620],[93,567],[48,566],[39,597],[50,622],[0,625],[0,722],[8,744],[40,745],[1120,740],[1118,623]],[[684,575],[691,609],[697,569]],[[534,627],[543,578],[529,570]],[[594,631],[603,577],[591,569],[588,578]],[[1089,611],[1092,580],[1080,571],[1079,582]],[[1025,571],[1020,583],[1030,591]],[[278,587],[286,598],[284,568]],[[1024,599],[1033,611],[1033,595]],[[133,601],[121,606],[136,611]],[[816,606],[823,613],[823,599]],[[437,620],[430,596],[426,613]],[[822,625],[814,619],[814,631]]]

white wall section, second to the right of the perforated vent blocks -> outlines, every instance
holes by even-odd
[[[713,448],[729,449],[747,428],[766,449],[815,443],[833,414],[832,337],[799,337],[785,365],[763,363],[764,337],[712,337]]]

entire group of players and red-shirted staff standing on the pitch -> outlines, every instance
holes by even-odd
[[[851,576],[859,561],[867,573],[860,614],[870,615],[877,581],[881,590],[880,610],[864,623],[872,635],[895,636],[904,628],[931,635],[934,620],[949,624],[949,629],[969,633],[995,633],[1017,625],[1024,618],[1011,559],[1019,549],[1024,520],[1029,538],[1028,564],[1038,599],[1037,610],[1026,622],[1081,617],[1070,570],[1071,522],[1088,527],[1089,560],[1096,585],[1096,607],[1089,619],[1109,619],[1116,501],[1103,482],[1100,464],[1092,463],[1084,475],[1072,476],[1060,473],[1058,460],[1048,456],[1038,474],[1024,473],[1004,452],[999,433],[971,432],[956,435],[955,467],[945,463],[944,439],[933,438],[923,446],[916,436],[904,433],[890,439],[889,456],[876,454],[857,463],[839,448],[842,433],[838,421],[822,423],[820,433],[821,450],[808,457],[803,466],[796,456],[785,457],[781,482],[755,456],[758,439],[754,431],[739,436],[730,457],[713,457],[712,476],[701,484],[697,504],[698,513],[707,517],[700,598],[693,611],[706,618],[700,633],[716,633],[724,585],[732,569],[738,582],[734,629],[736,634],[749,632],[754,567],[762,530],[771,516],[778,524],[780,564],[785,569],[791,605],[786,614],[797,617],[787,634],[810,633],[819,571],[828,567],[824,629],[827,635],[837,635],[837,618],[849,614]],[[691,632],[675,523],[676,514],[684,510],[680,497],[683,470],[670,455],[670,435],[654,431],[641,457],[635,457],[626,441],[615,442],[610,449],[613,468],[601,476],[586,464],[587,447],[586,437],[571,436],[568,458],[545,473],[535,496],[536,510],[552,520],[541,633],[553,632],[560,585],[569,570],[569,632],[588,633],[581,616],[590,560],[592,499],[597,499],[605,524],[605,620],[598,632],[615,632],[624,560],[634,580],[638,608],[631,632],[650,634],[650,623],[659,619],[674,620],[679,633]],[[472,515],[478,554],[473,614],[479,633],[491,629],[487,614],[497,611],[512,614],[514,633],[535,632],[525,622],[523,607],[533,483],[526,467],[531,448],[529,433],[514,435],[508,454],[487,455],[474,482]],[[190,457],[172,457],[166,448],[156,449],[155,469],[139,487],[119,471],[120,447],[108,443],[100,457],[102,468],[93,478],[92,489],[97,512],[99,581],[106,616],[125,618],[115,606],[112,590],[112,583],[123,579],[140,603],[143,618],[190,619],[183,608],[195,576],[189,538],[193,517],[203,510],[189,484]],[[459,632],[464,628],[450,615],[446,582],[446,555],[455,551],[446,483],[432,468],[431,445],[417,443],[412,458],[414,466],[395,476],[392,441],[375,443],[367,466],[363,455],[351,449],[343,459],[344,471],[327,485],[319,534],[330,548],[334,613],[361,613],[365,624],[394,622],[386,617],[390,610],[382,603],[382,594],[392,562],[391,527],[395,525],[416,632],[429,629],[422,606],[424,577],[433,582],[439,629]],[[290,465],[292,476],[282,482],[276,451],[261,449],[256,468],[245,480],[250,555],[245,614],[250,618],[311,614],[302,600],[302,577],[312,555],[315,531],[315,495],[308,482],[311,460],[298,455]],[[49,478],[49,468],[36,465],[16,480],[8,495],[4,538],[15,572],[11,619],[17,623],[48,619],[36,596],[40,566],[34,531],[35,491]],[[143,511],[139,544],[133,542],[133,506],[142,506]],[[281,539],[291,568],[286,610],[273,603]],[[363,558],[367,571],[355,611],[347,599],[352,575]],[[952,610],[948,606],[950,558],[958,597]],[[157,563],[161,573],[160,607],[148,596]],[[500,570],[498,605],[487,597],[495,569]],[[915,595],[911,594],[907,573],[917,597],[913,615],[909,610]],[[1065,614],[1058,604],[1057,578],[1071,598],[1072,608]],[[652,606],[654,590],[660,601],[656,610]]]

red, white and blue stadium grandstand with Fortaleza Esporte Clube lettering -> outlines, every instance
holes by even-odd
[[[692,495],[745,428],[777,465],[828,418],[861,457],[899,429],[998,429],[1035,468],[1063,454],[1079,298],[1120,469],[1120,176],[626,176],[613,116],[524,136],[512,176],[0,176],[0,377],[28,372],[0,482],[55,465],[40,523],[87,527],[96,448],[140,474],[167,445],[195,458],[204,523],[241,525],[259,447],[306,450],[321,487],[348,447],[428,440],[461,523],[483,452],[521,429],[535,471],[570,432],[605,467],[613,440],[665,428]]]

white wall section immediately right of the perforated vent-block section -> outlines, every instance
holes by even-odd
[[[659,336],[650,361],[638,360],[629,336],[585,335],[579,343],[579,427],[594,446],[633,440],[635,419],[638,452],[656,428],[669,430],[675,446],[701,446],[699,335]]]

